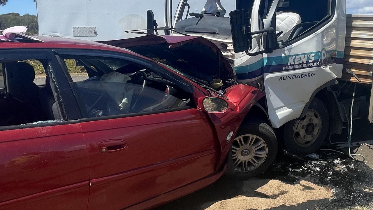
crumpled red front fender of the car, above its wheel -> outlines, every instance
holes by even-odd
[[[264,95],[262,91],[255,87],[244,84],[234,85],[229,87],[225,94],[229,99],[229,109],[225,112],[207,113],[216,129],[216,135],[220,143],[221,155],[216,167],[217,171],[224,166],[229,149],[242,121],[251,107]]]

